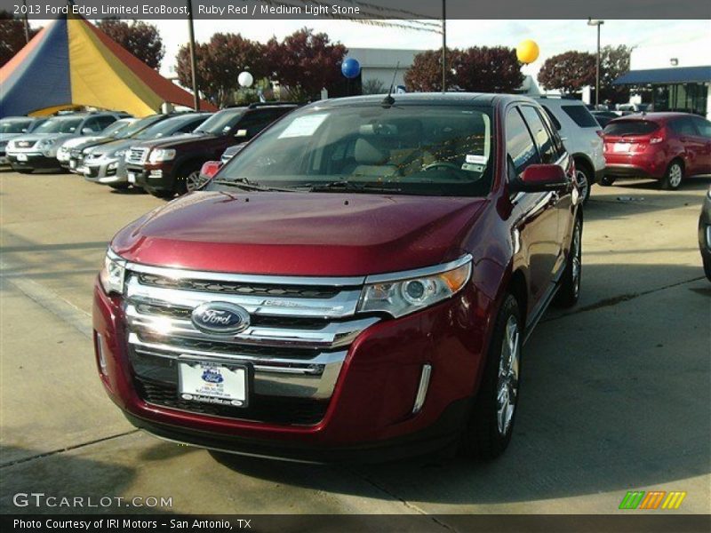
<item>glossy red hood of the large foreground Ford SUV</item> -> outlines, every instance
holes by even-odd
[[[240,274],[350,276],[428,267],[465,253],[485,199],[198,192],[124,227],[125,259]]]

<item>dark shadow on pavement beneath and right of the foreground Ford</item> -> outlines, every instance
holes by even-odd
[[[670,265],[597,265],[588,275],[622,282],[667,267],[675,280],[702,275]],[[430,456],[317,466],[215,457],[239,473],[372,497],[356,475],[382,495],[444,506],[624,495],[704,475],[711,471],[709,305],[705,279],[670,281],[539,324],[523,353],[514,439],[491,462]]]

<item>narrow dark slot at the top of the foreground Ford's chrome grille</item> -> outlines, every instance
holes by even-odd
[[[339,290],[335,287],[313,285],[263,285],[256,283],[214,282],[205,280],[175,279],[155,274],[140,274],[144,285],[166,289],[201,290],[221,294],[245,294],[250,296],[281,296],[289,298],[333,298]]]

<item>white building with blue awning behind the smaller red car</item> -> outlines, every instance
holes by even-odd
[[[638,46],[630,70],[614,84],[646,88],[632,103],[651,103],[655,111],[685,111],[711,118],[711,37],[682,44]]]

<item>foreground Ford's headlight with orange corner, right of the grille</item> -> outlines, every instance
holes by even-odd
[[[358,302],[358,311],[383,312],[395,318],[451,298],[469,281],[472,258],[463,256],[436,267],[396,274],[371,275]]]

